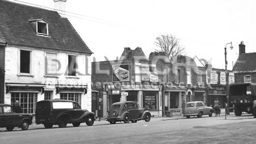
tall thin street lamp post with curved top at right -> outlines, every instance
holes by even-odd
[[[230,49],[233,49],[233,46],[232,46],[232,42],[230,43],[227,43],[226,46],[230,44]],[[225,104],[225,115],[229,115],[229,79],[228,79],[228,61],[226,61],[226,46],[225,46],[225,74],[226,74],[226,103],[227,103],[227,106]]]

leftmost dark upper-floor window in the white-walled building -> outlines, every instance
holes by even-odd
[[[20,73],[30,73],[31,51],[20,50]]]

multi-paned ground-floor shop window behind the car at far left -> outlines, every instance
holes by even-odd
[[[14,105],[18,100],[22,107],[22,113],[35,113],[38,94],[35,92],[12,92],[11,104]]]

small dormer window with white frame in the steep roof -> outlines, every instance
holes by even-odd
[[[49,36],[48,22],[44,19],[29,20],[37,35]]]

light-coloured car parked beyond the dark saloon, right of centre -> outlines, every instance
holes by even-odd
[[[203,115],[212,116],[213,108],[207,107],[203,101],[191,101],[185,104],[183,116],[189,118],[190,116],[202,117]]]

